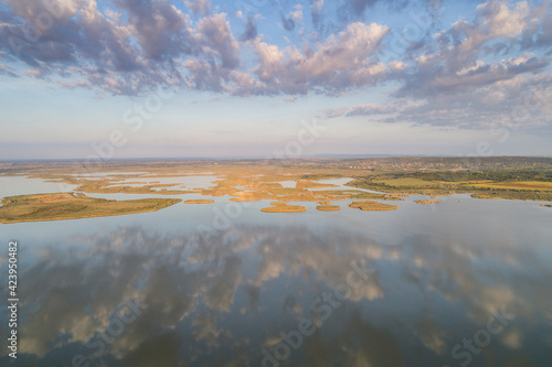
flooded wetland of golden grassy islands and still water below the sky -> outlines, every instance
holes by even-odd
[[[0,186],[0,229],[18,240],[21,322],[18,360],[4,350],[0,365],[460,366],[463,341],[478,345],[501,312],[508,324],[471,365],[548,366],[545,168],[452,182],[429,163],[341,164],[353,165],[3,168],[0,182],[17,182]]]

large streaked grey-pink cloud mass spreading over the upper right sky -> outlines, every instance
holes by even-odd
[[[376,119],[464,128],[550,123],[546,104],[535,101],[527,108],[523,99],[533,98],[535,89],[548,93],[542,90],[550,88],[551,56],[516,52],[527,48],[524,37],[539,23],[535,14],[527,2],[481,3],[471,21],[453,23],[388,64],[389,78],[400,83],[388,102],[335,109],[327,117],[388,114]],[[514,118],[520,109],[530,118]]]

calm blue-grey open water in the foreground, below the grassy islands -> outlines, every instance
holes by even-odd
[[[18,359],[0,365],[550,366],[552,209],[417,198],[0,225],[20,291]]]

